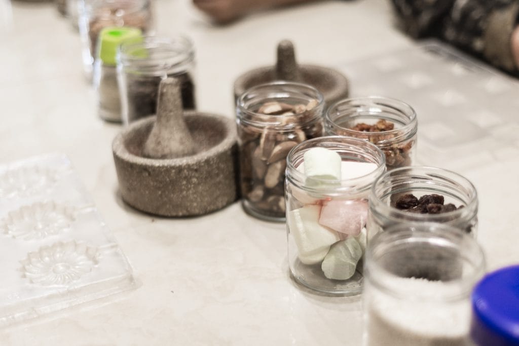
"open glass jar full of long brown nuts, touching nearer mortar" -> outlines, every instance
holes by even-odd
[[[286,109],[280,106],[280,112],[274,112],[283,114],[259,113],[271,113],[266,109],[269,105]],[[258,85],[238,98],[236,122],[245,212],[269,221],[285,220],[286,155],[298,143],[322,135],[323,111],[322,94],[296,82]]]

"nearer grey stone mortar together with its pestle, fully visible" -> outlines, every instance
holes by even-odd
[[[180,82],[160,82],[157,116],[130,124],[112,144],[122,199],[161,216],[197,216],[237,199],[236,125],[184,111]]]

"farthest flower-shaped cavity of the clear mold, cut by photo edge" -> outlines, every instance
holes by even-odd
[[[58,181],[57,172],[41,167],[22,167],[0,175],[1,198],[25,198],[39,195]]]

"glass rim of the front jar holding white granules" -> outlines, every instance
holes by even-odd
[[[399,292],[393,285],[389,285],[388,280],[403,278],[403,276],[392,273],[376,260],[378,253],[386,255],[388,253],[387,247],[397,247],[397,245],[401,245],[405,240],[412,241],[413,244],[424,243],[431,246],[450,245],[450,247],[457,248],[458,250],[463,246],[468,247],[468,251],[471,252],[472,256],[461,254],[460,252],[460,257],[465,260],[470,260],[470,272],[467,272],[466,267],[464,267],[463,277],[445,281],[446,283],[459,284],[460,290],[457,294],[446,295],[442,298],[449,300],[469,298],[473,285],[484,274],[486,267],[485,254],[481,245],[474,238],[470,237],[461,229],[446,224],[417,222],[396,224],[387,230],[375,234],[370,240],[370,246],[366,249],[365,261],[365,276],[371,284],[383,289],[384,292],[389,293],[393,297],[412,299],[424,296],[420,295],[420,292],[417,292],[414,297],[409,297],[408,292]],[[387,246],[384,247],[384,245]],[[434,298],[431,297],[431,299]],[[438,299],[438,297],[436,297],[436,299]]]

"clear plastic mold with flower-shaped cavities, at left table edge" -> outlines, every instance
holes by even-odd
[[[64,155],[0,166],[0,327],[133,288]]]

